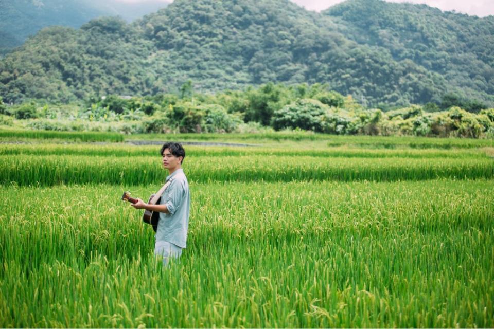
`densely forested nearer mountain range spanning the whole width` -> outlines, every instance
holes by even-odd
[[[442,44],[418,45],[419,32],[403,27],[410,8],[422,30],[440,31],[434,40]],[[450,44],[452,29],[436,27],[455,20],[458,46]],[[132,24],[106,17],[78,30],[43,29],[0,62],[0,96],[67,102],[174,92],[187,80],[208,92],[272,81],[328,83],[365,106],[439,103],[451,93],[490,105],[491,20],[380,0],[350,0],[321,14],[288,0],[175,0]],[[476,28],[487,33],[471,36],[484,52],[468,47]]]

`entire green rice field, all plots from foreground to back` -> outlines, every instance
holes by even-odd
[[[493,327],[489,141],[332,137],[185,146],[168,268],[120,200],[161,187],[159,146],[1,143],[0,327]]]

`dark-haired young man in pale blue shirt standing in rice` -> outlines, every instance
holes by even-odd
[[[186,247],[189,228],[190,194],[187,177],[182,169],[185,150],[179,143],[165,143],[161,148],[163,167],[168,169],[166,181],[171,180],[165,189],[159,205],[149,205],[141,199],[132,206],[160,213],[156,230],[154,254],[163,257],[167,265],[169,258],[179,258]]]

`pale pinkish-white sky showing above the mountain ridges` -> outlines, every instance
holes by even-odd
[[[146,2],[150,0],[118,0],[128,3]],[[171,2],[171,0],[158,0]],[[340,3],[343,0],[292,0],[298,5],[304,6],[309,10],[323,10]],[[494,15],[494,0],[387,0],[391,2],[411,2],[414,4],[427,4],[440,10],[455,10],[457,12],[467,13],[484,17]]]

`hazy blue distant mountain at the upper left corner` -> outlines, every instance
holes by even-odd
[[[30,35],[51,25],[79,28],[98,16],[121,16],[133,21],[166,7],[147,0],[139,4],[116,0],[2,0],[0,1],[0,55],[19,46]]]

